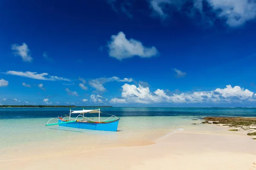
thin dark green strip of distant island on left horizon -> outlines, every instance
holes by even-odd
[[[75,106],[75,105],[0,105],[0,108],[113,108],[113,106]]]

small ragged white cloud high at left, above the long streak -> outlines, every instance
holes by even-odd
[[[32,57],[29,55],[29,48],[26,43],[22,43],[22,45],[14,44],[12,45],[12,50],[14,51],[15,55],[18,55],[22,58],[25,62],[32,62]]]

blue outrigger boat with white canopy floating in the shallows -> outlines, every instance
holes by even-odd
[[[87,116],[87,115],[90,116],[93,113],[99,113],[99,116],[93,117],[93,118],[90,118]],[[62,116],[61,117],[58,116],[58,118],[52,118],[47,122],[46,126],[59,125],[59,126],[89,129],[89,130],[116,131],[120,117],[117,118],[116,116],[112,115],[111,117],[105,119],[104,121],[100,121],[100,118],[102,118],[100,117],[100,113],[102,113],[100,111],[100,108],[95,110],[83,109],[81,111],[71,111],[70,109],[69,116],[65,115],[63,118]],[[78,114],[78,116],[76,116],[76,118],[71,117],[71,115],[74,115],[74,114]],[[111,118],[115,118],[115,119],[110,120]],[[53,119],[58,119],[58,123],[49,124],[49,122]]]

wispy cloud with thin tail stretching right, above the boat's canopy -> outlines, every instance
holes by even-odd
[[[124,79],[120,79],[119,77],[109,77],[109,78],[98,78],[98,79],[92,79],[88,82],[88,84],[95,88],[97,91],[106,91],[106,88],[103,86],[106,82],[113,82],[113,81],[117,81],[117,82],[132,82],[133,79],[131,78],[124,78]]]

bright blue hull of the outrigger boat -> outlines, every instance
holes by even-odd
[[[60,123],[61,120],[58,120]],[[108,123],[88,123],[88,122],[72,122],[60,124],[59,126],[73,127],[79,129],[89,129],[89,130],[103,130],[103,131],[116,131],[118,127],[119,119],[115,122]]]

